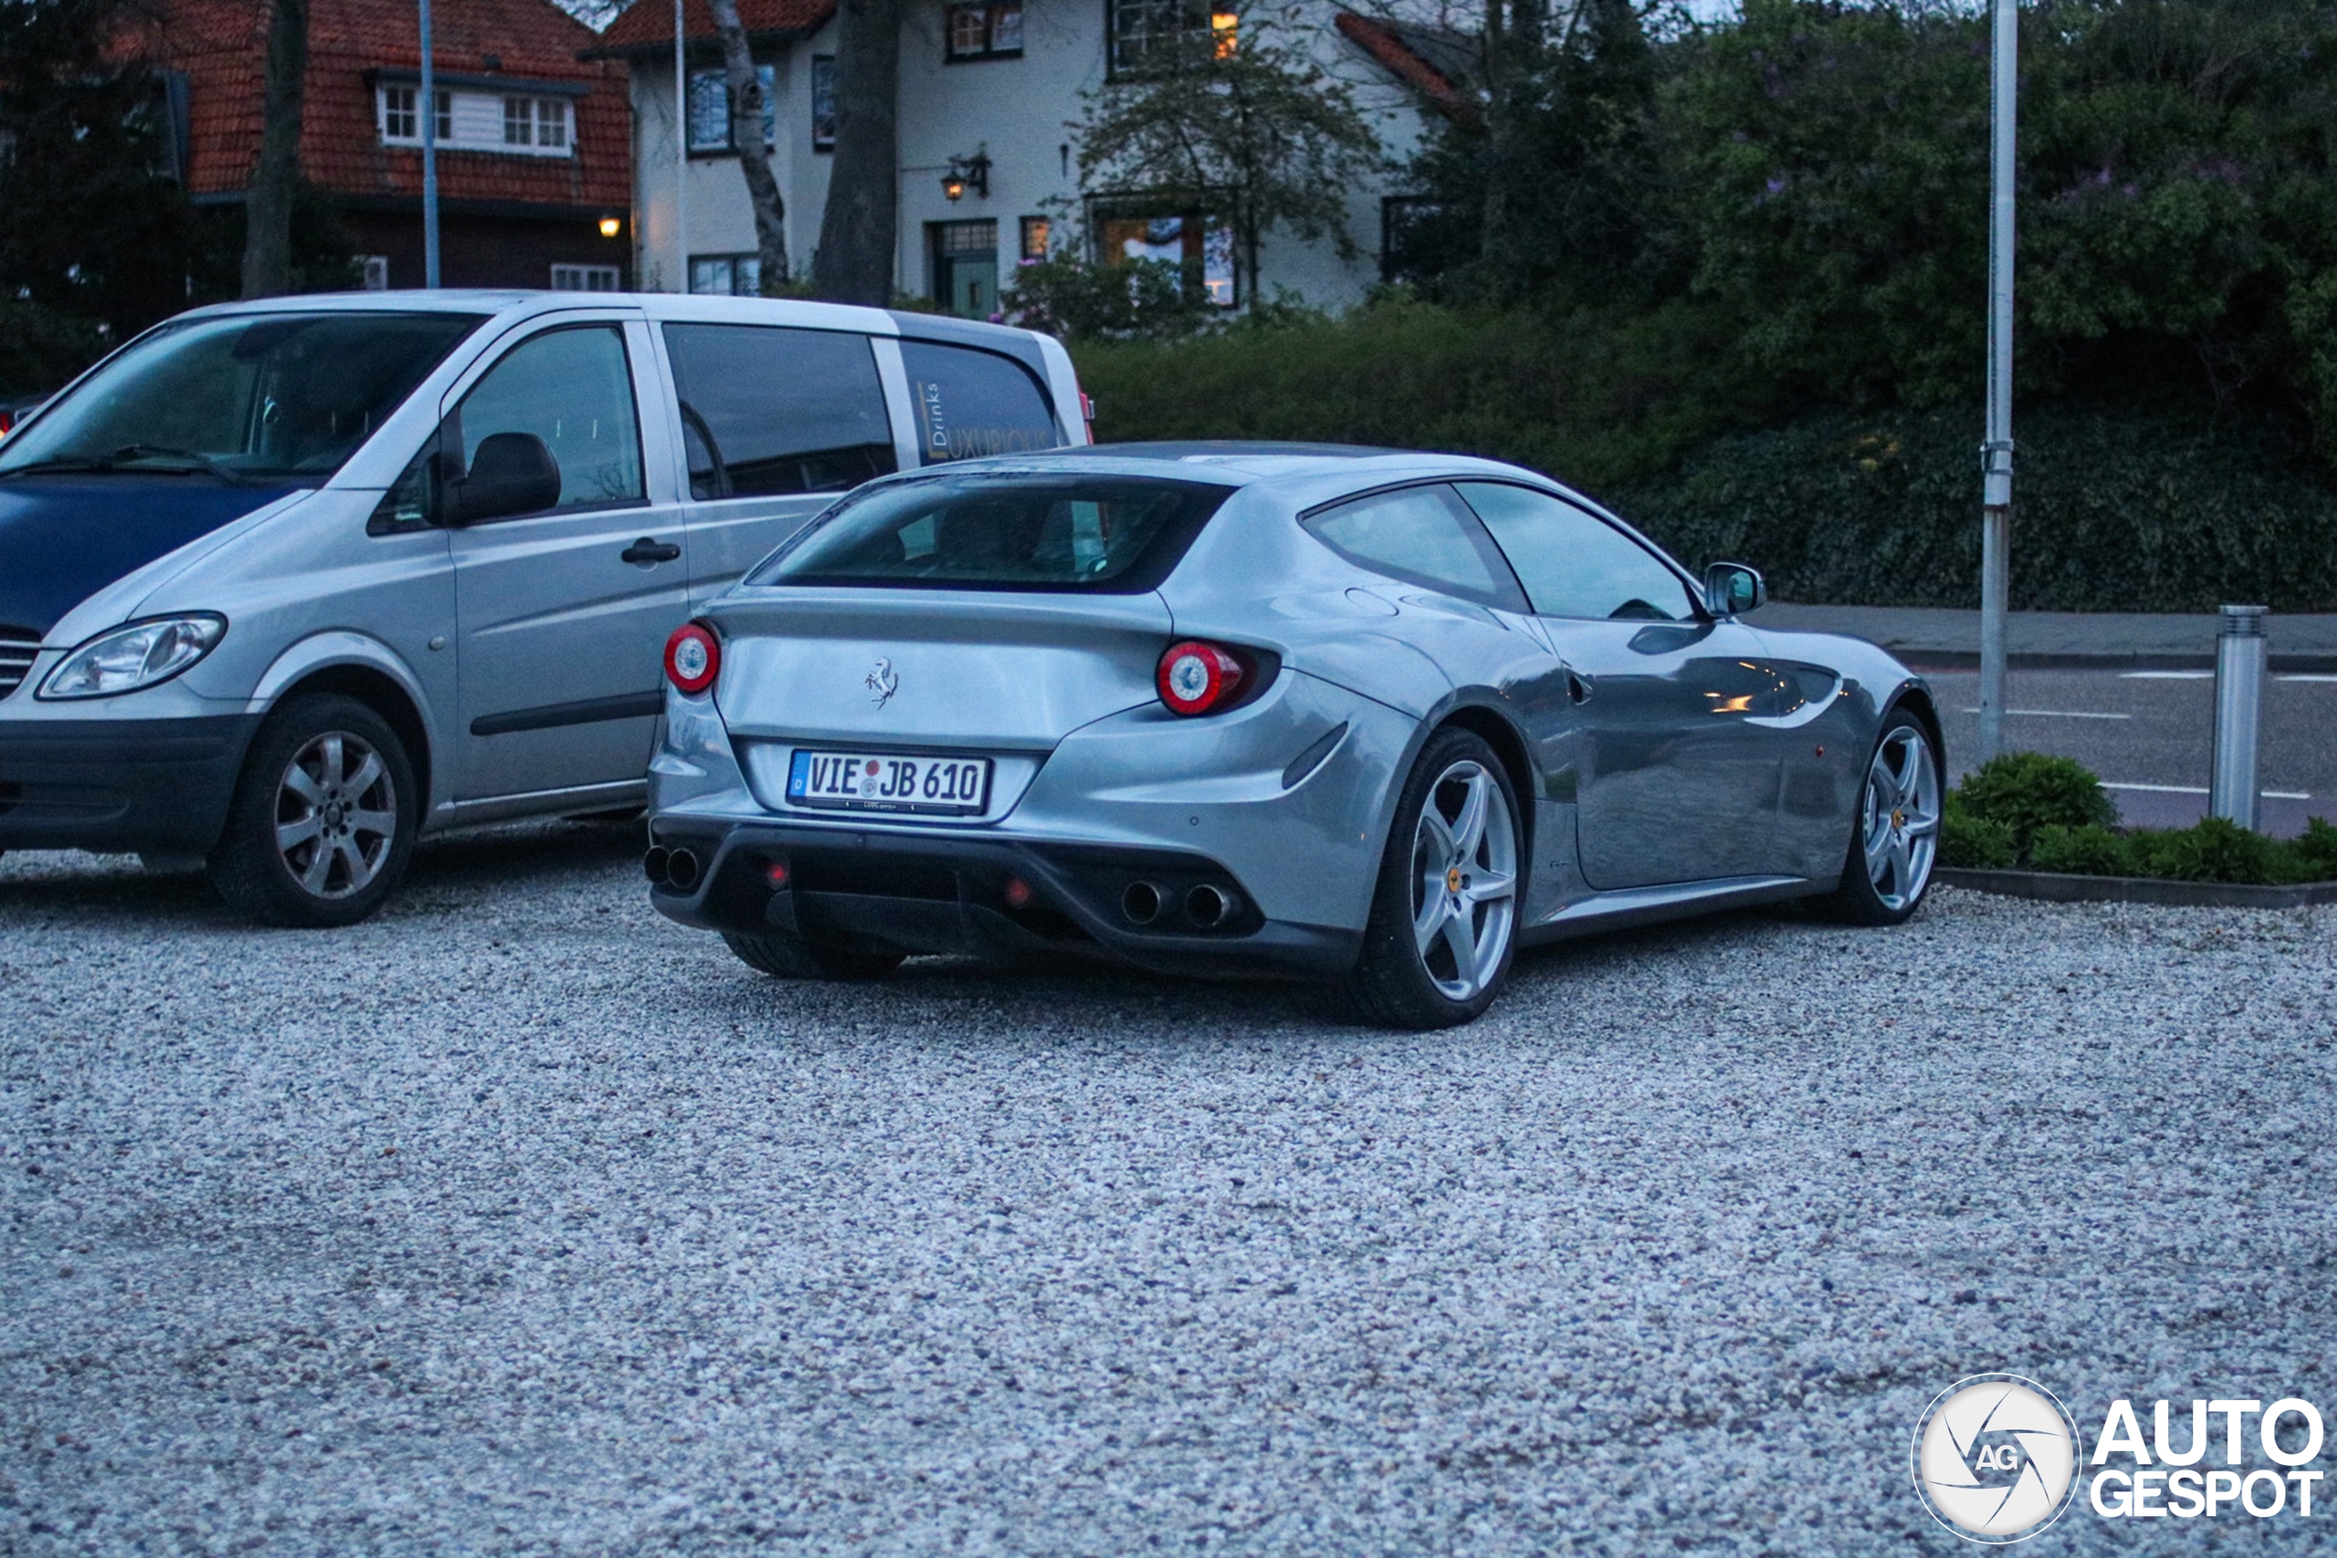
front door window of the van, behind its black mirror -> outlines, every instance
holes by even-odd
[[[521,341],[470,388],[449,432],[446,453],[460,441],[465,472],[498,432],[540,439],[559,467],[556,509],[643,500],[633,376],[615,325]]]

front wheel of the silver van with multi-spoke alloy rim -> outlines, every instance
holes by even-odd
[[[418,827],[414,764],[390,722],[358,698],[299,694],[252,736],[210,885],[264,925],[355,925],[407,874]]]

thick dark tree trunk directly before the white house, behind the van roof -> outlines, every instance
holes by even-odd
[[[837,152],[811,287],[834,304],[893,301],[900,185],[900,0],[837,7]]]

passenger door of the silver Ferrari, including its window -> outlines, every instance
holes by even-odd
[[[1706,617],[1687,579],[1547,493],[1456,484],[1517,568],[1568,670],[1575,829],[1594,888],[1776,869],[1778,747],[1760,638]]]

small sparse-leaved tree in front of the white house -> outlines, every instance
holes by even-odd
[[[1346,231],[1348,189],[1372,180],[1384,154],[1344,82],[1267,26],[1239,44],[1194,33],[1192,47],[1147,65],[1136,82],[1082,96],[1082,187],[1227,222],[1253,297],[1267,231],[1330,238],[1341,259],[1360,252]]]

